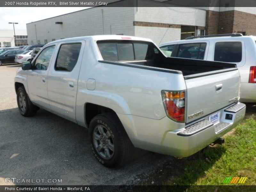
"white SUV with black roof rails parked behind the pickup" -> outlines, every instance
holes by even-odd
[[[235,63],[241,76],[241,102],[256,102],[256,36],[223,34],[188,37],[159,45],[168,57]]]

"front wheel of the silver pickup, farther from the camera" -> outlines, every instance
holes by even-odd
[[[19,87],[17,90],[17,104],[20,114],[25,117],[36,115],[36,112],[39,109],[30,101],[28,94],[23,86]]]

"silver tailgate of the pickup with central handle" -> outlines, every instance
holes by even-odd
[[[184,76],[187,85],[186,123],[207,116],[237,101],[240,76],[237,68]]]

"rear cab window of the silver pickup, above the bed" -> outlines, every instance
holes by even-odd
[[[108,61],[151,60],[154,48],[145,43],[98,43],[100,54]]]

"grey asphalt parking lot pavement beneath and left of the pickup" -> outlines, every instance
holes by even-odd
[[[0,185],[123,185],[173,157],[142,151],[124,167],[109,169],[92,156],[88,131],[45,110],[20,115],[14,76],[20,65],[0,66]],[[5,178],[30,179],[22,183]],[[52,183],[49,181],[61,180]]]

